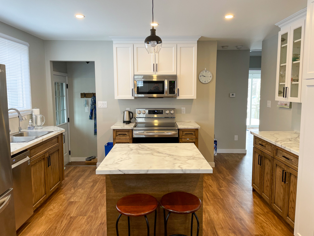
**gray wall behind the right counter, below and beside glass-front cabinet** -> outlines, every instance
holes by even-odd
[[[300,132],[301,103],[292,103],[288,109],[277,107],[275,101],[278,36],[263,41],[262,48],[259,130]],[[271,108],[267,101],[271,101]]]

